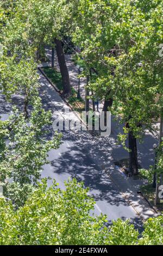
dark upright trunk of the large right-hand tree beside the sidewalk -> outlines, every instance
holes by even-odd
[[[129,131],[129,176],[138,174],[137,144],[133,131]]]

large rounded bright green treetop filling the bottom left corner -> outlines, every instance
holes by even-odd
[[[105,216],[90,216],[95,202],[87,196],[88,189],[75,179],[65,182],[65,191],[55,181],[47,188],[46,182],[42,180],[26,204],[15,212],[1,198],[1,245],[102,244]]]

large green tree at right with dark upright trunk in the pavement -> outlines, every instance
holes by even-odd
[[[82,48],[87,72],[96,70],[90,90],[104,99],[103,111],[111,109],[124,125],[118,138],[125,148],[129,140],[130,174],[138,173],[136,140],[153,130],[160,115],[162,60],[161,2],[80,1],[73,40]],[[75,22],[74,22],[75,23]]]

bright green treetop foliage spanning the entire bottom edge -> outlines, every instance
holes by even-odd
[[[163,217],[150,218],[141,237],[129,221],[90,215],[95,201],[76,179],[60,190],[55,181],[42,180],[24,206],[14,210],[0,198],[1,245],[162,245]]]

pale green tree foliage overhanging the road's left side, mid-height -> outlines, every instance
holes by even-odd
[[[28,122],[23,114],[15,109],[8,120],[12,131],[6,139],[9,144],[3,151],[0,162],[0,180],[4,186],[4,194],[16,206],[23,205],[27,199],[26,191],[32,189],[40,179],[43,164],[47,163],[47,153],[50,149],[57,149],[60,144],[60,135],[55,134],[51,141],[47,140],[48,129],[51,124],[51,112],[46,112],[39,97],[33,99],[33,111]],[[23,193],[24,191],[24,193]],[[24,196],[23,196],[24,194]]]

